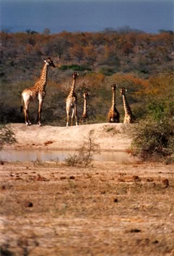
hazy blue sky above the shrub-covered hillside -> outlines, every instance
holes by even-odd
[[[145,32],[173,30],[172,0],[0,0],[1,28],[52,33],[130,26]]]

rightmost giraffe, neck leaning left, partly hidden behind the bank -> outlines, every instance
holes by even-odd
[[[127,90],[125,88],[121,88],[120,89],[120,93],[121,93],[121,95],[123,97],[123,106],[124,106],[124,109],[125,109],[125,118],[124,118],[123,123],[124,124],[130,124],[130,123],[134,123],[135,117],[134,117],[134,115],[133,115],[133,113],[132,113],[132,111],[131,111],[131,109],[130,109],[130,107],[128,105],[128,102],[127,102],[127,99],[126,99],[126,95],[125,95],[126,91]]]

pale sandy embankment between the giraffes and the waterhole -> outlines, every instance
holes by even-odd
[[[70,127],[11,124],[17,143],[14,148],[76,150],[89,133],[102,151],[125,151],[131,139],[126,136],[124,124],[90,124]]]

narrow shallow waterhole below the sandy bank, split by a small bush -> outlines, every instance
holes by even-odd
[[[28,161],[64,161],[76,151],[58,151],[58,150],[16,150],[3,149],[0,152],[0,160],[7,162],[28,162]],[[96,154],[93,160],[98,161],[115,161],[115,162],[133,162],[135,159],[126,152],[105,152]]]

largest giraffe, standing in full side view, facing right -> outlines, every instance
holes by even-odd
[[[29,119],[29,103],[32,100],[36,100],[38,98],[39,100],[39,108],[38,108],[38,125],[41,126],[41,110],[42,110],[42,103],[43,103],[43,98],[45,97],[45,87],[47,83],[47,72],[48,72],[48,66],[53,66],[55,68],[54,63],[52,62],[51,58],[47,58],[47,60],[44,60],[45,65],[43,66],[43,70],[41,72],[41,76],[36,82],[35,86],[27,88],[23,90],[22,92],[22,105],[24,102],[24,115],[25,115],[25,122],[26,125],[31,125],[32,123],[30,122]],[[21,105],[21,113],[22,113],[22,108],[23,106]]]

